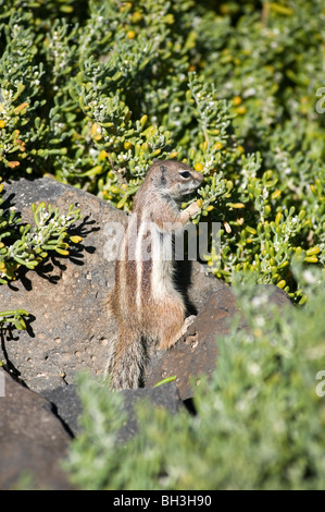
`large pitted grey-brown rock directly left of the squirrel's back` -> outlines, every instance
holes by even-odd
[[[18,280],[1,287],[2,307],[28,310],[30,321],[27,331],[5,332],[0,358],[36,391],[72,383],[83,367],[101,373],[113,329],[105,303],[114,276],[104,259],[103,230],[124,217],[92,195],[49,179],[5,184],[4,197],[4,207],[14,206],[32,222],[33,202],[45,200],[62,212],[71,203],[80,205],[84,218],[76,233],[84,240],[71,257],[53,256],[36,271],[22,269]]]

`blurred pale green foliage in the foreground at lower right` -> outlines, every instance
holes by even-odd
[[[296,271],[310,295],[301,308],[273,308],[249,280],[234,287],[249,331],[238,331],[238,318],[218,339],[216,370],[196,386],[195,416],[143,402],[139,434],[121,444],[123,395],[84,376],[84,428],[67,465],[73,481],[115,490],[324,488],[325,387],[317,374],[325,369],[325,292],[318,272]]]

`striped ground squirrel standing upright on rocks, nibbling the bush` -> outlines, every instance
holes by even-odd
[[[141,387],[150,348],[170,349],[192,321],[174,284],[171,248],[173,234],[200,210],[179,203],[202,180],[185,163],[155,160],[135,196],[110,296],[118,326],[107,366],[111,389]]]

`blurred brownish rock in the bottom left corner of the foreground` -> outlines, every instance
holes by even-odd
[[[50,402],[2,368],[0,379],[0,489],[72,489],[61,467],[71,436]]]

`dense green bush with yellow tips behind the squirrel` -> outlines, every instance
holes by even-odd
[[[2,0],[0,164],[54,174],[122,209],[153,158],[204,174],[220,278],[292,300],[291,259],[324,265],[321,0]],[[184,205],[186,206],[186,205]]]

